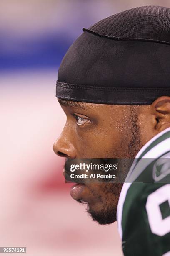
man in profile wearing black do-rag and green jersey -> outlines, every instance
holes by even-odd
[[[170,9],[134,8],[83,31],[58,72],[56,97],[67,122],[54,151],[67,159],[138,155],[130,171],[121,170],[129,171],[123,186],[76,184],[70,194],[98,223],[118,220],[126,256],[168,256],[169,168],[160,170],[162,183],[153,169],[170,151]],[[149,181],[140,183],[145,173]]]

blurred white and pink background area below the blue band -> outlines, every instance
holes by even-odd
[[[29,256],[122,255],[117,225],[97,225],[72,200],[52,151],[65,123],[56,74],[1,74],[0,245]]]

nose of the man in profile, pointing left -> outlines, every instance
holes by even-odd
[[[76,157],[76,151],[71,141],[72,139],[64,128],[59,138],[54,142],[53,150],[55,154],[57,154],[57,156],[74,159]]]

